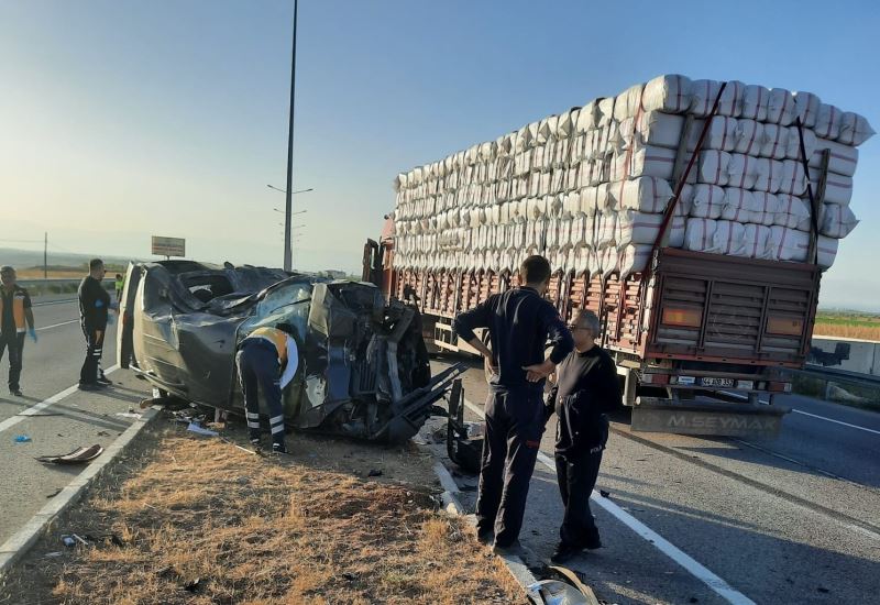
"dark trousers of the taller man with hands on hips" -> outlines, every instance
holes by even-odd
[[[540,393],[490,393],[476,527],[481,532],[494,528],[496,546],[509,547],[519,536],[542,432]]]

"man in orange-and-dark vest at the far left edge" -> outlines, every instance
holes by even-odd
[[[15,283],[15,270],[0,267],[0,360],[9,351],[9,394],[21,397],[21,369],[24,353],[24,333],[36,342],[34,312],[28,290]]]

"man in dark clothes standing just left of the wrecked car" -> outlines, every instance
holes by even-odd
[[[86,360],[79,371],[79,388],[82,391],[96,391],[110,384],[99,367],[111,306],[110,295],[101,285],[106,273],[103,261],[92,258],[89,274],[79,284],[79,323],[86,337]]]

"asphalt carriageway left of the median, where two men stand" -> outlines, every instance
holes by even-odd
[[[24,344],[24,397],[8,394],[6,355],[0,363],[0,543],[82,471],[82,466],[43,464],[34,457],[109,446],[132,422],[119,415],[132,408],[139,413],[138,404],[147,392],[129,372],[110,371],[116,365],[116,326],[108,329],[102,363],[116,384],[98,393],[76,389],[85,354],[76,304],[43,305],[45,300],[34,299],[38,340],[29,338]],[[31,441],[18,443],[16,436]]]

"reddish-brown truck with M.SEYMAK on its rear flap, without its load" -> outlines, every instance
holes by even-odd
[[[678,151],[675,199],[708,122],[694,150],[682,144]],[[682,136],[690,139],[686,132]],[[816,190],[810,190],[813,217],[820,212],[828,161],[826,151]],[[783,262],[668,246],[663,231],[674,201],[670,206],[641,271],[622,277],[557,266],[546,297],[563,320],[578,309],[598,316],[600,344],[615,359],[632,430],[774,437],[790,411],[778,398],[791,392],[791,371],[803,367],[811,346],[823,271],[815,255],[815,220],[809,261]],[[380,238],[364,246],[363,279],[386,298],[416,306],[435,350],[476,354],[454,333],[452,321],[491,295],[520,285],[517,268],[397,266],[395,243],[389,213]]]

